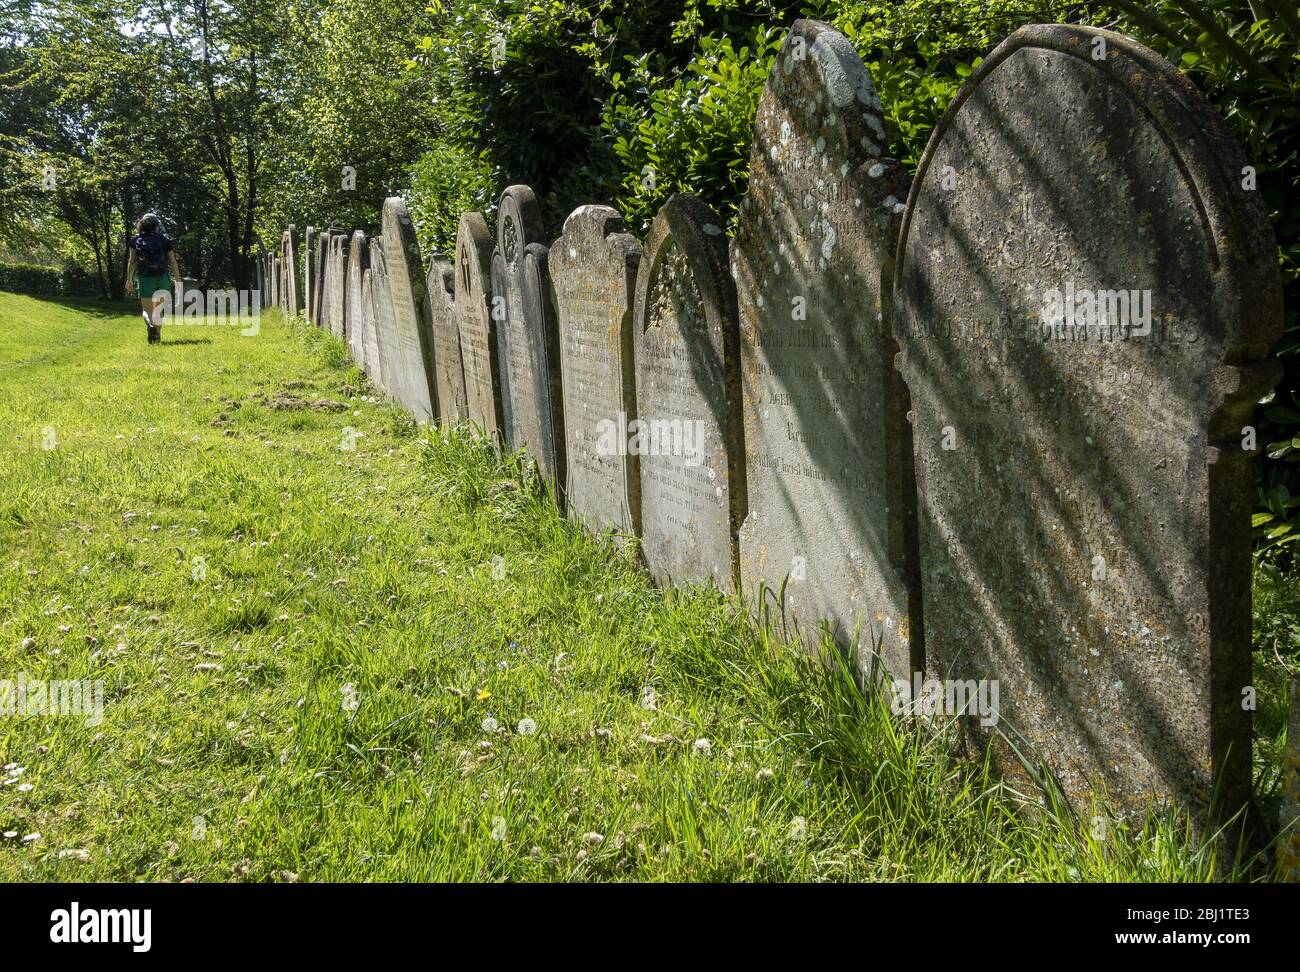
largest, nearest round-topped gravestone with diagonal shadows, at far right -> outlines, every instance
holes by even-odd
[[[1249,798],[1243,426],[1280,286],[1243,166],[1153,52],[1031,26],[958,92],[907,204],[927,673],[998,680],[1000,725],[1078,806]]]

